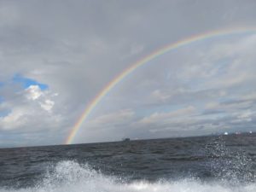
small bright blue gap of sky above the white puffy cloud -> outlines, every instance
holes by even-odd
[[[24,89],[28,88],[30,85],[38,85],[41,90],[47,90],[49,88],[48,84],[41,84],[35,79],[28,79],[20,74],[16,74],[13,78],[15,83],[20,83],[23,85]]]

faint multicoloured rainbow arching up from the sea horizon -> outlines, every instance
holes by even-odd
[[[71,131],[68,134],[68,137],[65,141],[66,144],[70,144],[73,142],[74,137],[79,131],[79,128],[83,124],[84,120],[88,118],[91,111],[96,107],[96,105],[99,104],[99,102],[102,101],[102,98],[108,94],[110,90],[113,89],[113,87],[116,84],[119,84],[119,82],[122,79],[125,79],[125,77],[132,72],[134,72],[138,67],[142,67],[144,64],[146,64],[148,61],[153,60],[154,58],[165,54],[168,51],[178,49],[184,45],[188,45],[191,43],[194,43],[196,41],[202,41],[208,38],[214,38],[218,36],[225,36],[225,35],[232,35],[232,34],[240,34],[240,33],[256,33],[255,27],[239,27],[239,28],[233,28],[233,29],[224,29],[224,30],[217,30],[212,32],[205,32],[199,35],[195,35],[189,38],[184,38],[183,40],[177,41],[173,44],[167,44],[166,46],[155,50],[151,54],[143,57],[141,60],[136,61],[135,63],[131,64],[130,67],[127,67],[122,73],[119,73],[112,81],[110,81],[95,97],[91,102],[86,106],[84,113],[79,117],[78,121],[73,125],[71,128]]]

